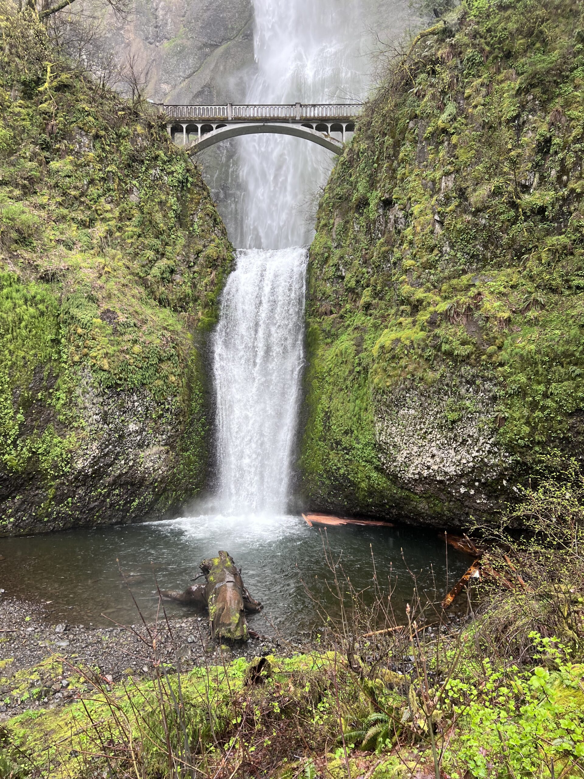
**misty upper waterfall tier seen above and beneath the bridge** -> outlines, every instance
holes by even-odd
[[[361,2],[253,0],[257,68],[248,103],[346,102],[362,97]],[[237,246],[310,243],[299,206],[329,175],[335,155],[294,138],[252,136],[240,146]]]

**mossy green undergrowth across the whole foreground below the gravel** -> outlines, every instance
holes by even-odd
[[[175,775],[169,756],[178,776],[191,775],[188,766],[204,777],[227,767],[234,777],[434,776],[433,728],[441,777],[582,777],[584,665],[558,640],[531,639],[529,667],[479,663],[470,652],[434,686],[415,671],[363,661],[355,674],[333,652],[241,658],[180,676],[160,667],[152,679],[128,675],[115,685],[82,668],[68,679],[73,703],[2,724],[0,776],[86,777],[107,768],[114,777],[166,777]],[[363,643],[365,653],[372,644]],[[457,648],[442,658],[432,643],[413,640],[409,651],[438,680]],[[42,695],[33,685],[60,668],[45,661],[20,672],[15,694],[28,682],[26,693]]]

